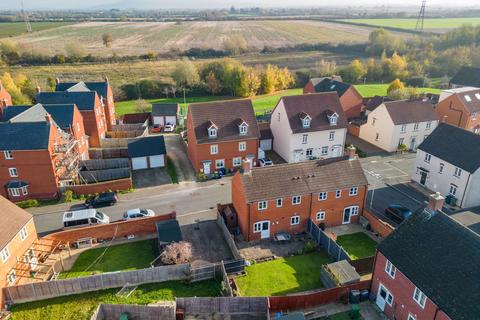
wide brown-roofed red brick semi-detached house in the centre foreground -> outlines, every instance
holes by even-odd
[[[232,201],[244,239],[298,233],[308,219],[326,227],[358,222],[367,179],[347,157],[246,168],[232,181]]]

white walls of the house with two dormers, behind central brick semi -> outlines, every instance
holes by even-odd
[[[280,121],[278,115],[280,114]],[[300,121],[300,119],[298,119]],[[290,123],[287,118],[285,106],[283,101],[280,101],[275,110],[272,113],[270,121],[270,128],[273,134],[273,150],[278,153],[285,161],[292,163],[295,162],[294,154],[295,150],[302,150],[300,155],[300,161],[307,160],[306,150],[313,149],[313,156],[317,158],[330,158],[333,156],[333,147],[339,146],[339,156],[343,155],[343,148],[345,145],[345,138],[347,135],[347,129],[335,129],[335,130],[322,130],[312,131],[305,133],[293,134],[290,129]],[[334,139],[329,141],[330,132],[334,131]],[[307,143],[303,144],[303,135],[308,135]],[[322,147],[328,147],[328,155],[322,156]]]

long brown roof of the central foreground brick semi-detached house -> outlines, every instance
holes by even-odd
[[[345,157],[253,168],[241,181],[250,203],[368,184],[360,162]]]

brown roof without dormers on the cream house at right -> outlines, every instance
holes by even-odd
[[[395,125],[438,120],[438,115],[428,101],[399,100],[384,103]]]

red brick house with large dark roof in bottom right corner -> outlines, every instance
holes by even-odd
[[[479,235],[446,214],[415,213],[377,247],[376,304],[389,319],[479,319],[479,248]]]

